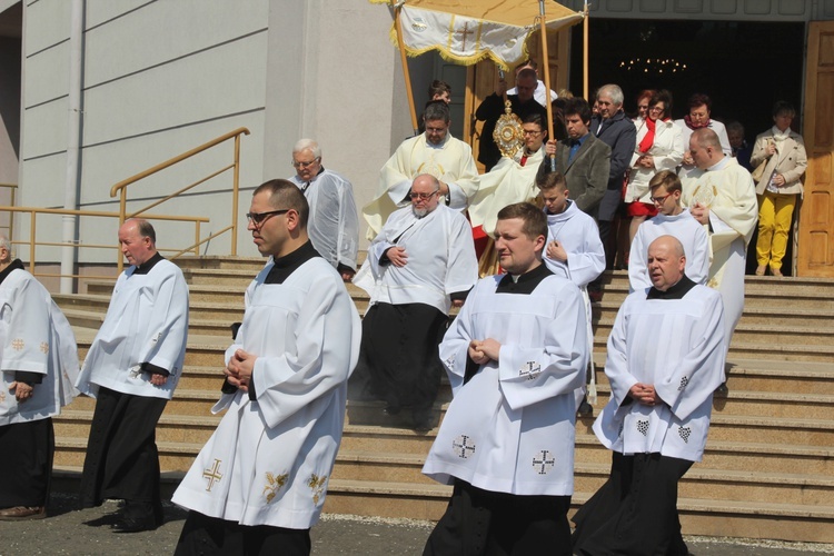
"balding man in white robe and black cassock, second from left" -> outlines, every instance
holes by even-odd
[[[156,247],[147,220],[119,228],[130,262],[87,353],[76,387],[96,398],[81,474],[81,506],[125,500],[119,533],[162,524],[156,427],[182,376],[188,337],[188,286]]]

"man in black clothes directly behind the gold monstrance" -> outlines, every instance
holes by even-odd
[[[539,115],[542,121],[547,121],[547,109],[533,98],[537,85],[536,72],[530,68],[523,69],[516,76],[516,90],[518,95],[507,95],[513,113],[518,116],[523,121],[527,116],[533,113]],[[493,131],[495,131],[498,118],[504,115],[504,93],[506,90],[507,82],[502,78],[495,88],[495,92],[485,98],[484,102],[475,110],[475,117],[478,120],[485,120],[484,128],[480,131],[478,162],[484,165],[486,171],[492,170],[502,158],[502,152],[493,139]]]

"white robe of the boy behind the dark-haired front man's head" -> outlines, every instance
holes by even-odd
[[[605,249],[594,219],[579,210],[574,201],[568,201],[558,215],[545,215],[547,242],[559,241],[567,251],[567,261],[545,257],[547,268],[580,288],[596,280],[605,270]]]

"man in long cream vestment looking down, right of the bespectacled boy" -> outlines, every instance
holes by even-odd
[[[726,348],[744,311],[744,271],[747,245],[758,218],[756,190],[749,172],[735,158],[725,157],[718,137],[699,129],[689,139],[697,170],[683,179],[681,201],[697,221],[708,227],[707,286],[724,301]]]

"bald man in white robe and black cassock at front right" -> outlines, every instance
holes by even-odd
[[[713,391],[724,380],[721,296],[684,274],[676,238],[648,247],[652,287],[631,294],[608,338],[610,400],[594,433],[608,481],[574,516],[574,554],[688,554],[677,481],[701,461]]]

